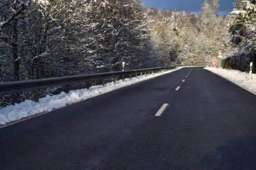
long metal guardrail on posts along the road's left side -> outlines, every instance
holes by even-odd
[[[89,75],[75,75],[75,76],[65,76],[65,77],[55,77],[49,79],[34,79],[28,81],[10,81],[0,83],[0,95],[7,95],[11,93],[18,93],[24,91],[35,91],[35,101],[39,101],[39,89],[47,88],[47,87],[57,87],[61,85],[65,85],[65,93],[69,93],[69,87],[73,83],[82,83],[86,82],[87,89],[90,88],[90,81],[101,79],[102,85],[105,84],[105,79],[109,77],[113,77],[113,81],[117,81],[118,76],[122,76],[122,79],[125,79],[125,76],[129,75],[129,78],[138,74],[147,75],[151,73],[158,73],[159,71],[166,71],[170,69],[174,69],[174,67],[159,67],[152,69],[139,69],[132,71],[117,71],[117,72],[108,72],[108,73],[96,73]]]

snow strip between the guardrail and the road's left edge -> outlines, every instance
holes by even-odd
[[[121,87],[132,85],[140,81],[152,79],[160,75],[171,73],[181,68],[182,67],[179,67],[177,69],[173,69],[170,71],[165,71],[162,73],[155,73],[152,75],[146,75],[146,76],[143,75],[137,78],[125,79],[125,81],[119,80],[119,81],[116,81],[116,83],[113,83],[113,82],[107,83],[104,86],[96,85],[96,86],[90,87],[90,89],[73,90],[73,91],[70,91],[68,94],[62,92],[59,95],[53,95],[53,96],[47,95],[46,97],[39,99],[39,103],[36,103],[32,100],[26,100],[22,103],[9,105],[6,108],[2,108],[0,110],[0,126],[3,126],[4,124],[8,124],[15,120],[28,118],[36,114],[51,112],[52,110],[63,108],[66,105],[77,103],[79,101],[83,101],[85,99],[89,99],[91,97],[101,95],[103,93],[108,93],[109,91],[120,89]]]

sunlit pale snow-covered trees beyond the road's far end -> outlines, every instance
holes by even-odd
[[[228,53],[228,19],[215,15],[212,4],[205,1],[201,15],[170,11],[166,17],[163,11],[154,11],[154,16],[152,9],[148,10],[153,21],[150,24],[152,40],[163,63],[205,65],[211,58],[218,56],[219,50]]]

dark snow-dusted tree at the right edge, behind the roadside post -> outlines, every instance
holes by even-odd
[[[234,7],[230,13],[229,32],[236,48],[230,52],[230,65],[232,69],[249,71],[249,62],[256,61],[256,1],[238,0]]]

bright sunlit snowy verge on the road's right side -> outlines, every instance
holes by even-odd
[[[253,74],[252,79],[249,80],[249,73],[227,70],[227,69],[217,69],[213,67],[205,67],[206,70],[215,73],[216,75],[220,75],[225,79],[228,79],[232,83],[251,91],[256,94],[256,75]]]

